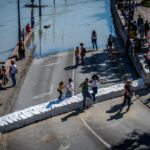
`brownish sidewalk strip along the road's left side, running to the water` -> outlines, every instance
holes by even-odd
[[[28,68],[30,67],[30,64],[32,62],[32,53],[31,51],[27,48],[27,45],[30,44],[30,38],[33,35],[33,30],[30,32],[29,35],[26,36],[24,44],[25,44],[25,53],[26,53],[26,58],[24,60],[16,61],[16,65],[18,68],[18,73],[16,76],[17,79],[17,86],[16,87],[11,87],[11,79],[9,79],[9,82],[4,88],[6,90],[1,90],[0,91],[0,116],[7,114],[11,110],[11,105],[15,101],[20,87],[23,83],[24,77],[26,75],[26,72]],[[13,50],[11,56],[18,55],[18,46]],[[10,61],[14,59],[8,59],[5,63],[6,70],[9,69],[10,66]]]

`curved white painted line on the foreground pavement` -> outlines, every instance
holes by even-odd
[[[87,124],[87,122],[79,115],[81,121],[83,122],[83,124],[85,125],[85,127],[91,131],[91,133],[100,141],[102,142],[107,148],[111,148],[111,145],[109,143],[107,143],[105,140],[103,140],[95,131],[93,131],[93,129]]]

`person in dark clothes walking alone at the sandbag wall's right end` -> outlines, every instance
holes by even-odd
[[[131,80],[126,81],[124,89],[125,89],[125,94],[124,94],[124,101],[123,101],[122,107],[124,107],[126,102],[127,102],[128,103],[128,110],[129,110],[130,105],[131,105],[131,98],[133,96],[133,86],[132,86]]]

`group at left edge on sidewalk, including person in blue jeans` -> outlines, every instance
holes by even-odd
[[[18,72],[17,66],[13,60],[10,62],[8,71],[5,66],[0,68],[0,90],[6,89],[5,85],[8,83],[9,78],[12,80],[12,86],[16,86],[16,74]]]

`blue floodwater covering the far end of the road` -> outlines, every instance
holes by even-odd
[[[30,0],[20,0],[21,26],[29,22],[31,8],[24,5]],[[38,0],[35,0],[38,3]],[[91,32],[96,30],[98,47],[104,48],[108,35],[115,35],[110,12],[110,0],[42,0],[47,5],[42,9],[42,17],[39,18],[38,8],[34,9],[35,56],[46,56],[53,52],[71,50],[80,42],[87,49],[91,45]],[[0,61],[6,60],[17,43],[17,1],[0,1]],[[44,25],[51,25],[44,29]]]

